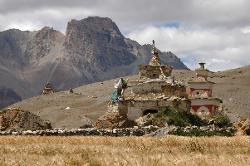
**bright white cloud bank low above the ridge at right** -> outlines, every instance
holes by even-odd
[[[157,47],[172,51],[190,68],[200,61],[212,70],[224,70],[250,64],[250,34],[241,29],[154,27],[132,31],[128,37],[141,44],[156,40]]]

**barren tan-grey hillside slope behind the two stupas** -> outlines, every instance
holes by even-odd
[[[177,80],[187,80],[195,76],[193,71],[175,70]],[[136,79],[137,75],[126,77]],[[214,74],[214,96],[222,98],[225,110],[232,120],[239,117],[250,118],[250,67],[218,72]],[[96,120],[106,110],[116,79],[84,85],[52,95],[37,96],[12,105],[31,111],[44,119],[50,120],[53,127],[80,127],[85,116]],[[127,90],[129,93],[129,90]],[[70,109],[66,109],[69,107]]]

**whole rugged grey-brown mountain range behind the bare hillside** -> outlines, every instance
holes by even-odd
[[[109,18],[71,20],[66,35],[44,27],[29,32],[0,32],[0,85],[22,98],[41,93],[51,82],[57,90],[134,74],[148,63],[150,45],[125,38]],[[162,63],[187,67],[171,52],[159,52]]]

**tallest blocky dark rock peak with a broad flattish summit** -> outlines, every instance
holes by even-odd
[[[64,45],[68,55],[74,56],[75,64],[85,69],[94,68],[97,72],[128,65],[135,60],[135,55],[127,50],[125,38],[110,18],[71,20]],[[75,61],[76,57],[78,61]]]

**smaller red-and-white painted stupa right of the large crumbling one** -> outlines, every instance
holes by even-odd
[[[205,63],[199,63],[196,78],[188,82],[187,94],[191,100],[191,112],[202,117],[209,117],[222,109],[222,100],[212,96],[214,82],[208,81],[210,71]]]

